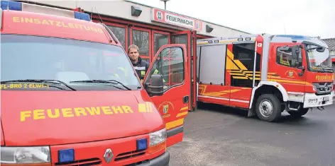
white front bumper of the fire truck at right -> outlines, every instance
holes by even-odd
[[[332,105],[334,91],[330,95],[315,95],[314,93],[305,93],[304,95],[304,108],[321,107],[326,105]]]

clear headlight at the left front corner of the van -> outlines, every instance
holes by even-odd
[[[2,163],[32,164],[50,162],[49,146],[42,147],[1,147]]]

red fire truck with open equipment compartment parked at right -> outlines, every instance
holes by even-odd
[[[247,109],[263,121],[333,104],[329,49],[302,35],[197,40],[197,82],[200,103]]]

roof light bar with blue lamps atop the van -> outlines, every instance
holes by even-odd
[[[35,4],[27,4],[18,1],[1,0],[1,9],[11,11],[30,11],[35,13],[45,13],[56,16],[76,18],[79,20],[91,21],[91,18],[88,13],[81,13],[77,11],[70,11],[61,8],[52,8],[48,6],[40,6]]]

